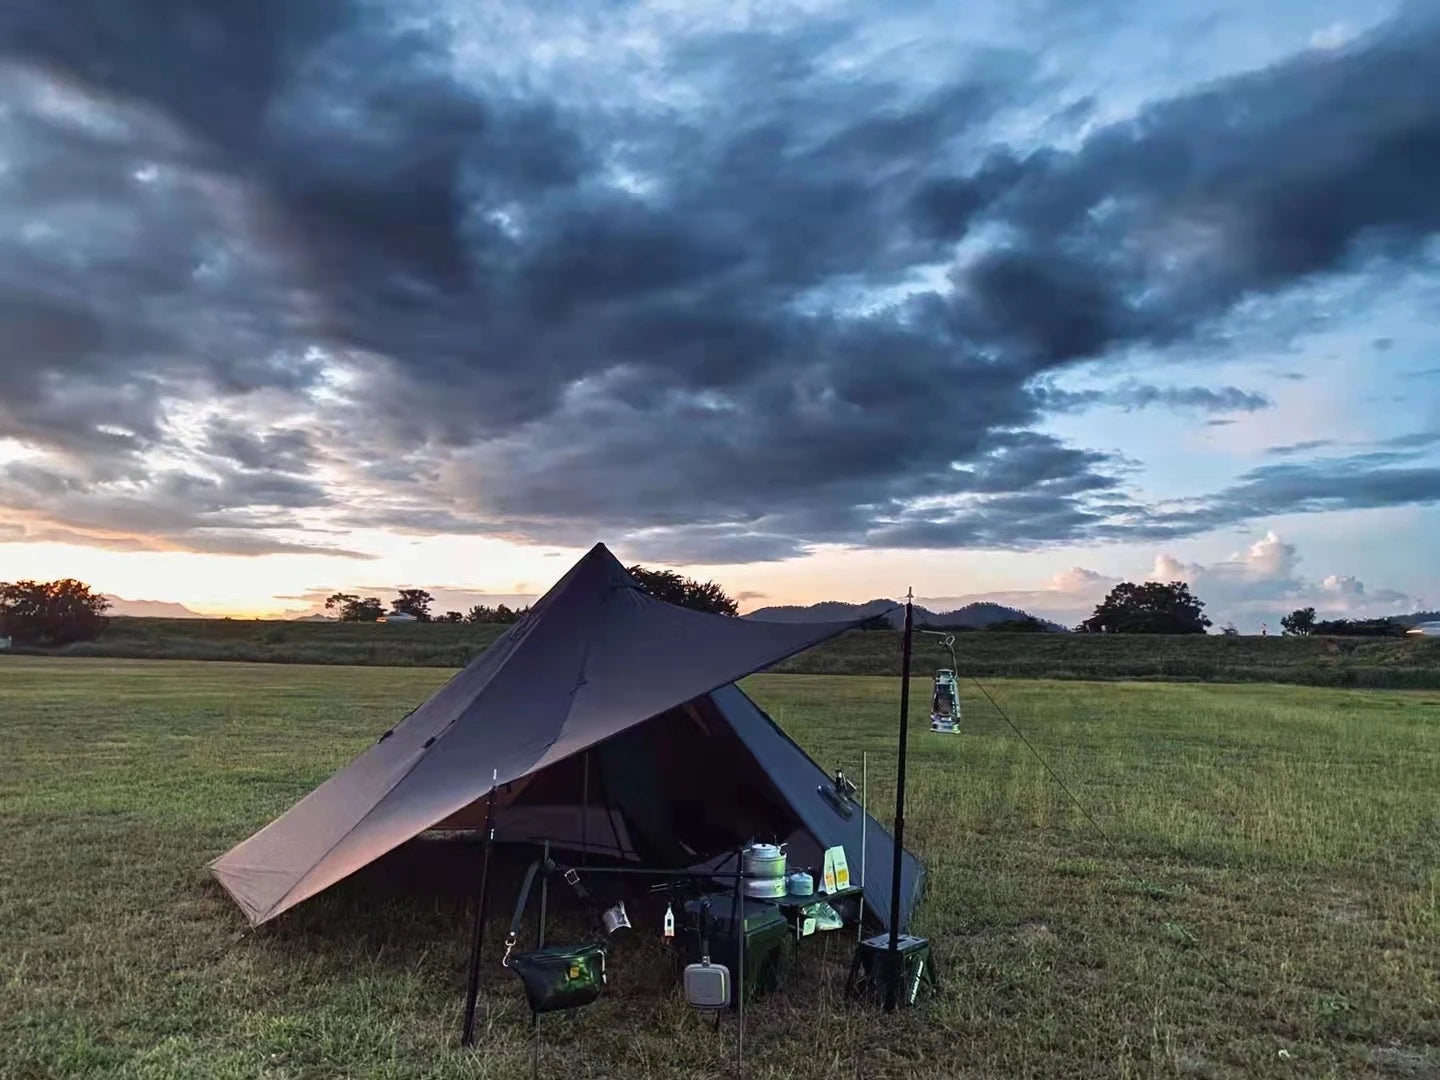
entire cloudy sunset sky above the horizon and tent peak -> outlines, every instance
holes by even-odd
[[[12,0],[0,579],[1440,606],[1440,6]]]

